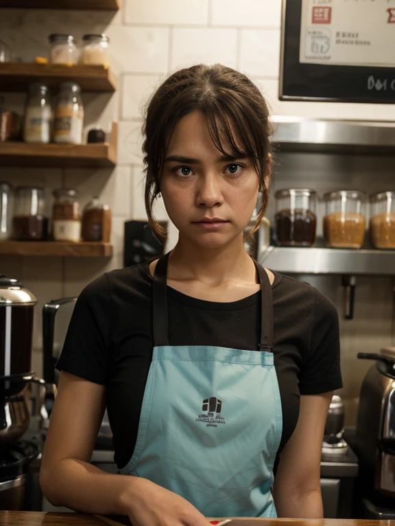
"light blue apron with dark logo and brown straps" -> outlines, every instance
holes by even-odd
[[[205,516],[276,517],[271,487],[283,416],[267,273],[254,261],[262,298],[259,351],[173,346],[167,335],[168,258],[156,265],[154,353],[136,447],[120,473],[181,495]]]

